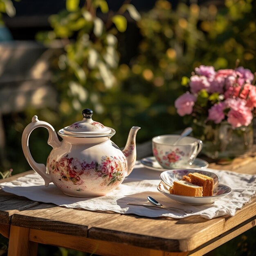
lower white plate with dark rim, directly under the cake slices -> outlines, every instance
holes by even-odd
[[[174,200],[180,204],[189,204],[189,205],[213,204],[213,202],[215,202],[220,198],[225,197],[232,191],[232,189],[229,186],[219,183],[213,187],[212,196],[195,197],[195,196],[170,194],[169,188],[170,186],[165,184],[163,181],[161,181],[157,186],[157,190],[160,193],[164,194],[166,197],[170,198],[171,200]]]

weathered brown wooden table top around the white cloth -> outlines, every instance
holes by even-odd
[[[256,174],[256,157],[235,159],[228,165],[210,164],[210,168]],[[28,171],[2,182],[14,180]],[[0,224],[51,231],[165,252],[187,252],[214,244],[236,230],[237,235],[255,225],[256,197],[238,210],[234,217],[206,220],[200,216],[183,219],[144,218],[67,209],[54,204],[34,202],[0,190]],[[165,254],[168,255],[168,254]]]

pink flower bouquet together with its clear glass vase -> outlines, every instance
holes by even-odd
[[[243,67],[216,71],[200,65],[190,79],[183,78],[188,91],[176,99],[175,108],[192,123],[193,135],[202,139],[207,156],[236,157],[252,147],[254,83],[254,74]]]

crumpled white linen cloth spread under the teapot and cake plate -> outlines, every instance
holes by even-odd
[[[157,191],[160,182],[159,171],[145,168],[137,162],[132,173],[126,177],[117,189],[108,195],[95,198],[75,198],[64,195],[53,183],[44,186],[43,179],[33,173],[17,178],[12,182],[0,184],[3,191],[24,196],[30,200],[53,203],[61,207],[80,208],[90,211],[112,211],[121,214],[136,214],[144,217],[184,218],[199,215],[211,219],[218,216],[234,216],[237,209],[249,202],[256,192],[256,175],[239,174],[231,171],[217,171],[206,168],[206,171],[216,173],[220,183],[231,187],[232,192],[213,204],[191,206],[179,204]],[[193,210],[191,214],[180,214],[153,207],[128,205],[127,202],[147,202],[150,195],[163,205]]]

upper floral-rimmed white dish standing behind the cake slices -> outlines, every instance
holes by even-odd
[[[189,173],[200,173],[213,178],[213,186],[216,186],[220,181],[218,175],[216,175],[215,173],[194,169],[177,169],[163,171],[162,173],[160,173],[160,179],[168,186],[173,186],[173,181],[182,180],[182,177],[184,175],[188,175]]]

